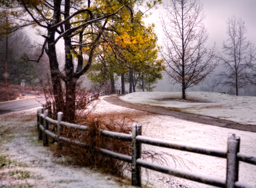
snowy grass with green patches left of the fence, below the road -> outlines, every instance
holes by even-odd
[[[65,158],[54,159],[37,140],[36,108],[1,114],[0,119],[0,187],[132,187],[97,170],[65,165]]]

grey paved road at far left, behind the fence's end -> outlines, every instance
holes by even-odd
[[[0,103],[0,114],[39,107],[41,103],[38,101],[39,98],[31,98]]]

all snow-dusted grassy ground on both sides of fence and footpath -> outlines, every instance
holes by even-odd
[[[189,112],[209,115],[212,117],[221,116],[229,120],[256,125],[255,111],[256,97],[236,97],[219,93],[208,92],[188,92],[188,99],[200,100],[200,102],[186,102],[177,99],[178,92],[136,92],[121,97],[122,100],[132,103],[147,105],[164,105],[165,107],[183,108]],[[201,97],[199,97],[201,96]],[[102,97],[104,98],[104,97]],[[133,109],[111,105],[102,100],[94,102],[97,105],[95,113],[124,112],[138,113]],[[135,100],[136,99],[136,100]],[[212,111],[211,111],[212,110]],[[233,113],[232,113],[233,112]],[[135,120],[142,125],[142,135],[177,141],[189,145],[197,145],[210,148],[227,148],[227,138],[232,134],[240,137],[240,151],[256,156],[256,133],[204,125],[185,120],[180,120],[164,115],[156,115],[147,112],[140,112]],[[254,116],[254,117],[253,117]],[[0,115],[0,133],[6,127],[11,127],[12,139],[3,144],[0,155],[9,155],[12,160],[28,164],[28,167],[13,167],[25,169],[34,175],[34,178],[25,180],[15,180],[13,177],[5,177],[3,172],[7,169],[0,169],[0,187],[4,184],[28,184],[33,187],[132,187],[129,184],[117,181],[115,177],[103,175],[95,170],[65,166],[53,160],[51,152],[42,143],[37,141],[36,135],[36,109],[22,112],[12,112]],[[19,121],[22,119],[22,122]],[[222,119],[222,118],[221,118]],[[25,122],[25,123],[24,123]],[[132,125],[131,125],[132,126]],[[1,136],[0,136],[1,139]],[[189,172],[207,175],[210,177],[225,178],[226,160],[211,156],[204,156],[183,152],[173,149],[157,148],[149,145],[142,145],[146,150],[165,151],[174,156],[180,157],[184,165],[176,165],[169,158],[170,166],[183,169]],[[166,188],[166,187],[212,187],[189,180],[172,177],[166,174],[149,171],[142,173],[142,183],[147,187]],[[240,163],[239,181],[256,186],[256,166]],[[124,180],[123,180],[124,181]],[[3,186],[4,187],[4,186]]]

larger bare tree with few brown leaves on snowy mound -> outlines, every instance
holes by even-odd
[[[208,33],[199,0],[171,0],[164,8],[161,24],[165,39],[161,54],[171,83],[182,84],[182,99],[186,99],[185,90],[198,85],[216,67],[215,45],[212,49],[205,46]]]

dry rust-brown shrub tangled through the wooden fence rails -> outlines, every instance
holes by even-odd
[[[117,176],[123,176],[126,170],[131,170],[131,164],[121,160],[102,155],[99,148],[108,149],[110,151],[132,156],[132,143],[128,141],[120,141],[112,138],[107,138],[101,135],[100,130],[108,130],[119,133],[132,133],[132,124],[138,123],[136,119],[142,115],[139,113],[108,113],[108,114],[87,114],[83,116],[81,113],[76,117],[76,124],[83,124],[88,127],[87,131],[79,131],[77,129],[63,129],[63,136],[84,142],[86,147],[77,146],[72,143],[61,142],[61,148],[55,148],[55,156],[69,156],[72,158],[72,163],[81,166],[90,166],[98,168],[102,172],[110,173]],[[143,150],[141,158],[156,162],[164,166],[168,166],[171,157],[173,164],[176,166],[186,166],[183,160],[165,152],[156,153],[154,151]],[[127,172],[127,171],[126,171]],[[147,173],[147,170],[146,170]]]

